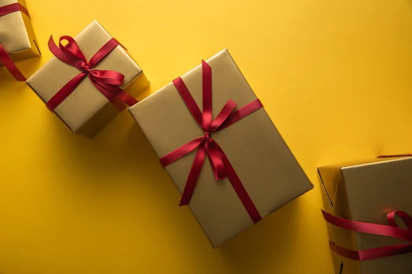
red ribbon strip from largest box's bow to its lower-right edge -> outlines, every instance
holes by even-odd
[[[236,174],[236,171],[235,169],[233,169],[233,166],[229,162],[229,159],[227,159],[227,156],[222,151],[222,148],[220,148],[218,144],[216,144],[216,146],[219,149],[220,157],[222,158],[223,164],[225,164],[227,179],[229,179],[231,186],[238,195],[240,201],[242,202],[244,208],[251,217],[253,223],[258,223],[260,220],[262,220],[262,216],[260,216],[258,208],[256,208],[246,188],[244,188],[242,181],[240,181],[238,174]]]

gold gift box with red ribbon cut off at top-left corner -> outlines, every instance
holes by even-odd
[[[25,77],[14,62],[40,55],[25,0],[0,0],[0,65],[19,81]]]

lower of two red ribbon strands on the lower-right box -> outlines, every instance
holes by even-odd
[[[360,251],[339,247],[334,242],[329,242],[329,245],[330,249],[340,256],[356,261],[374,260],[412,252],[412,245],[391,245],[389,247],[377,247]]]

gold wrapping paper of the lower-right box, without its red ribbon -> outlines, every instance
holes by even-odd
[[[412,214],[412,158],[376,158],[323,166],[318,171],[325,211],[334,216],[387,225],[388,212],[402,210]],[[328,233],[336,245],[352,250],[405,243],[396,238],[351,232],[329,223]],[[358,262],[332,251],[332,258],[336,274],[412,273],[411,253]]]

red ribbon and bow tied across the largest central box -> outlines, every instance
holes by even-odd
[[[176,86],[176,89],[181,95],[183,101],[185,101],[185,104],[190,110],[190,113],[194,117],[195,121],[205,132],[205,135],[187,142],[186,145],[183,145],[171,153],[168,153],[160,159],[160,162],[163,167],[168,166],[168,164],[179,160],[186,154],[198,148],[189,177],[187,177],[187,182],[185,184],[185,189],[183,190],[179,206],[186,206],[190,203],[194,188],[196,187],[196,182],[199,174],[201,173],[203,162],[205,162],[205,156],[207,155],[216,180],[225,178],[229,179],[229,182],[238,195],[240,201],[242,201],[242,204],[247,210],[253,223],[258,223],[258,221],[262,219],[258,209],[253,204],[251,197],[249,197],[247,190],[244,188],[240,178],[233,169],[233,166],[231,166],[231,163],[222,148],[214,139],[211,138],[211,134],[214,132],[219,132],[220,130],[229,127],[229,125],[233,125],[233,123],[240,121],[256,110],[259,110],[263,107],[263,105],[259,99],[256,99],[255,101],[245,105],[243,108],[234,111],[237,105],[235,102],[229,100],[222,108],[218,116],[216,116],[216,119],[213,120],[211,115],[211,67],[203,60],[202,78],[203,113],[198,108],[196,101],[194,101],[190,91],[187,89],[187,86],[181,77],[175,79],[173,84]]]

